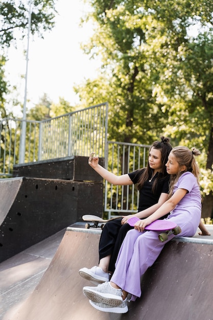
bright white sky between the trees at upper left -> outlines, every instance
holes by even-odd
[[[74,84],[96,75],[97,62],[89,60],[80,49],[80,43],[86,42],[93,33],[91,25],[79,27],[80,18],[87,10],[83,1],[58,0],[56,9],[59,16],[55,28],[44,33],[44,39],[30,37],[27,98],[31,102],[27,108],[38,103],[44,93],[55,103],[62,97],[75,105],[78,97],[73,92]],[[10,48],[6,65],[7,79],[17,86],[22,103],[26,73],[24,50],[27,50],[27,37],[18,40],[17,49]],[[19,113],[17,107],[13,111]]]

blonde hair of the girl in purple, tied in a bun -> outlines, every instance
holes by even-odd
[[[173,148],[171,153],[176,157],[176,161],[178,162],[179,166],[185,166],[186,169],[184,171],[180,171],[177,175],[171,175],[169,197],[172,196],[174,185],[181,176],[181,174],[183,174],[186,171],[192,172],[194,176],[197,178],[198,185],[200,175],[200,170],[195,160],[195,155],[200,155],[200,151],[198,149],[192,148],[190,150],[187,147],[179,146]]]

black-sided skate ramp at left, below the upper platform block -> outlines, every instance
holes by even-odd
[[[102,209],[102,182],[0,179],[0,263]]]

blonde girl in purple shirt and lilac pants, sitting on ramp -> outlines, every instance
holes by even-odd
[[[104,312],[126,313],[127,295],[135,301],[141,295],[140,277],[159,256],[165,243],[174,238],[169,236],[160,242],[158,232],[145,231],[146,225],[170,213],[167,219],[181,228],[178,236],[192,237],[201,219],[201,195],[198,182],[199,168],[195,155],[200,152],[193,148],[175,147],[165,165],[171,175],[169,199],[149,217],[135,223],[128,231],[117,257],[115,271],[110,282],[97,287],[84,287],[83,293],[90,304]]]

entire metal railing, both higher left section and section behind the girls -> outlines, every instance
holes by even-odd
[[[25,163],[88,156],[90,151],[105,158],[105,168],[115,175],[147,166],[149,145],[107,141],[108,104],[43,121],[26,121]],[[0,121],[0,177],[12,176],[13,166],[20,161],[20,119]],[[134,185],[113,186],[105,182],[104,212],[116,214],[137,212],[139,194]]]

